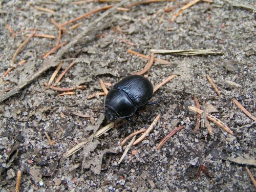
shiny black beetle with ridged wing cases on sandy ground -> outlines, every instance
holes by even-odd
[[[118,83],[106,95],[105,117],[108,120],[131,117],[140,106],[153,96],[152,83],[142,75],[130,75]]]

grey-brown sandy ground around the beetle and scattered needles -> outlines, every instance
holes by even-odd
[[[57,37],[58,29],[51,23],[51,18],[61,24],[113,4],[73,5],[70,2],[2,1],[1,75],[9,68],[15,51],[27,38],[26,34],[32,32],[28,29],[36,28],[36,33]],[[61,59],[80,60],[58,87],[85,84],[87,89],[76,90],[75,95],[57,97],[59,92],[44,85],[56,69],[51,68],[1,104],[1,191],[15,191],[18,170],[22,171],[20,191],[255,191],[245,165],[225,160],[250,159],[254,165],[248,164],[248,168],[255,176],[255,124],[232,102],[232,98],[236,98],[256,115],[255,15],[249,9],[233,7],[222,1],[199,2],[171,22],[173,14],[184,5],[179,5],[182,2],[138,5],[130,8],[130,12],[110,14],[98,24],[103,29],[98,28],[81,38],[63,54]],[[247,3],[255,5],[255,2]],[[177,6],[173,11],[163,12],[173,6]],[[35,7],[48,8],[55,13],[39,11]],[[74,30],[71,29],[73,24],[67,25],[60,42],[70,42],[101,14],[98,12],[73,23],[82,22]],[[7,24],[16,33],[13,38]],[[121,39],[134,45],[121,42]],[[44,62],[42,57],[55,44],[56,38],[32,37],[17,55],[14,66],[24,59],[27,62],[4,77],[1,90],[13,89],[26,81],[40,69]],[[140,71],[148,62],[127,53],[127,49],[148,56],[151,49],[217,49],[223,54],[156,54],[157,58],[170,64],[154,62],[144,75],[156,85],[169,75],[177,74],[154,94],[152,101],[169,97],[148,106],[142,113],[146,122],[135,118],[129,125],[124,125],[124,132],[112,129],[94,139],[93,133],[109,123],[100,113],[104,96],[87,99],[93,93],[102,92],[99,79],[116,83],[122,77]],[[61,72],[71,62],[64,61]],[[211,97],[217,94],[206,74],[216,83],[222,98]],[[229,126],[234,135],[227,134],[214,123],[210,123],[212,136],[202,127],[193,133],[196,114],[189,111],[188,106],[195,104],[193,94],[185,92],[202,94],[196,95],[200,104],[214,106],[217,111],[211,114]],[[96,115],[95,124],[89,118],[71,112]],[[118,164],[124,151],[120,142],[125,136],[147,128],[158,114],[161,117],[153,131],[140,144],[132,146]],[[184,129],[156,152],[160,140],[180,125]],[[239,128],[244,125],[247,126]],[[49,144],[45,132],[54,141],[53,145]],[[72,147],[85,141],[90,142],[70,157],[63,157]],[[246,162],[242,160],[242,163]]]

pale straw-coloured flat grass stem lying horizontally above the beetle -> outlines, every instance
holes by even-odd
[[[188,50],[167,50],[167,49],[152,49],[151,52],[154,53],[160,53],[160,54],[166,54],[166,53],[176,53],[179,55],[185,55],[185,56],[193,56],[193,55],[212,55],[212,54],[222,54],[221,52],[218,52],[218,49],[188,49]]]

